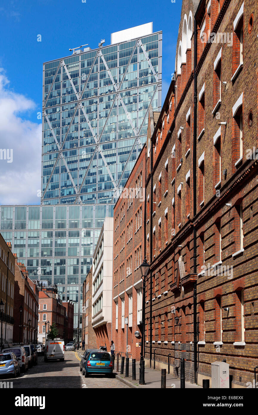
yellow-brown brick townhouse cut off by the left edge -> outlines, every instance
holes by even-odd
[[[14,267],[15,259],[12,254],[11,243],[5,242],[0,234],[0,301],[2,300],[4,303],[2,312],[2,343],[10,342],[13,338]]]

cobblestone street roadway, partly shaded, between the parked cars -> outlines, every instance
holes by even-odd
[[[65,361],[44,362],[38,357],[38,364],[17,378],[1,378],[13,382],[13,388],[128,388],[121,381],[105,376],[84,378],[80,372],[80,352],[65,352]]]

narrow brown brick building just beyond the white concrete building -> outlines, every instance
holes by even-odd
[[[96,348],[96,333],[92,327],[92,267],[82,285],[82,340],[86,349]]]

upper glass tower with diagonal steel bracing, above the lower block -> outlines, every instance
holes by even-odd
[[[161,59],[156,32],[44,63],[41,203],[114,202],[160,109]]]

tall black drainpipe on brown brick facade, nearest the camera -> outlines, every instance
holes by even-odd
[[[193,217],[196,215],[196,139],[197,139],[197,20],[194,19],[194,115],[193,115]],[[193,272],[197,273],[196,228],[193,227]],[[194,381],[197,384],[197,281],[193,286],[193,356]]]

